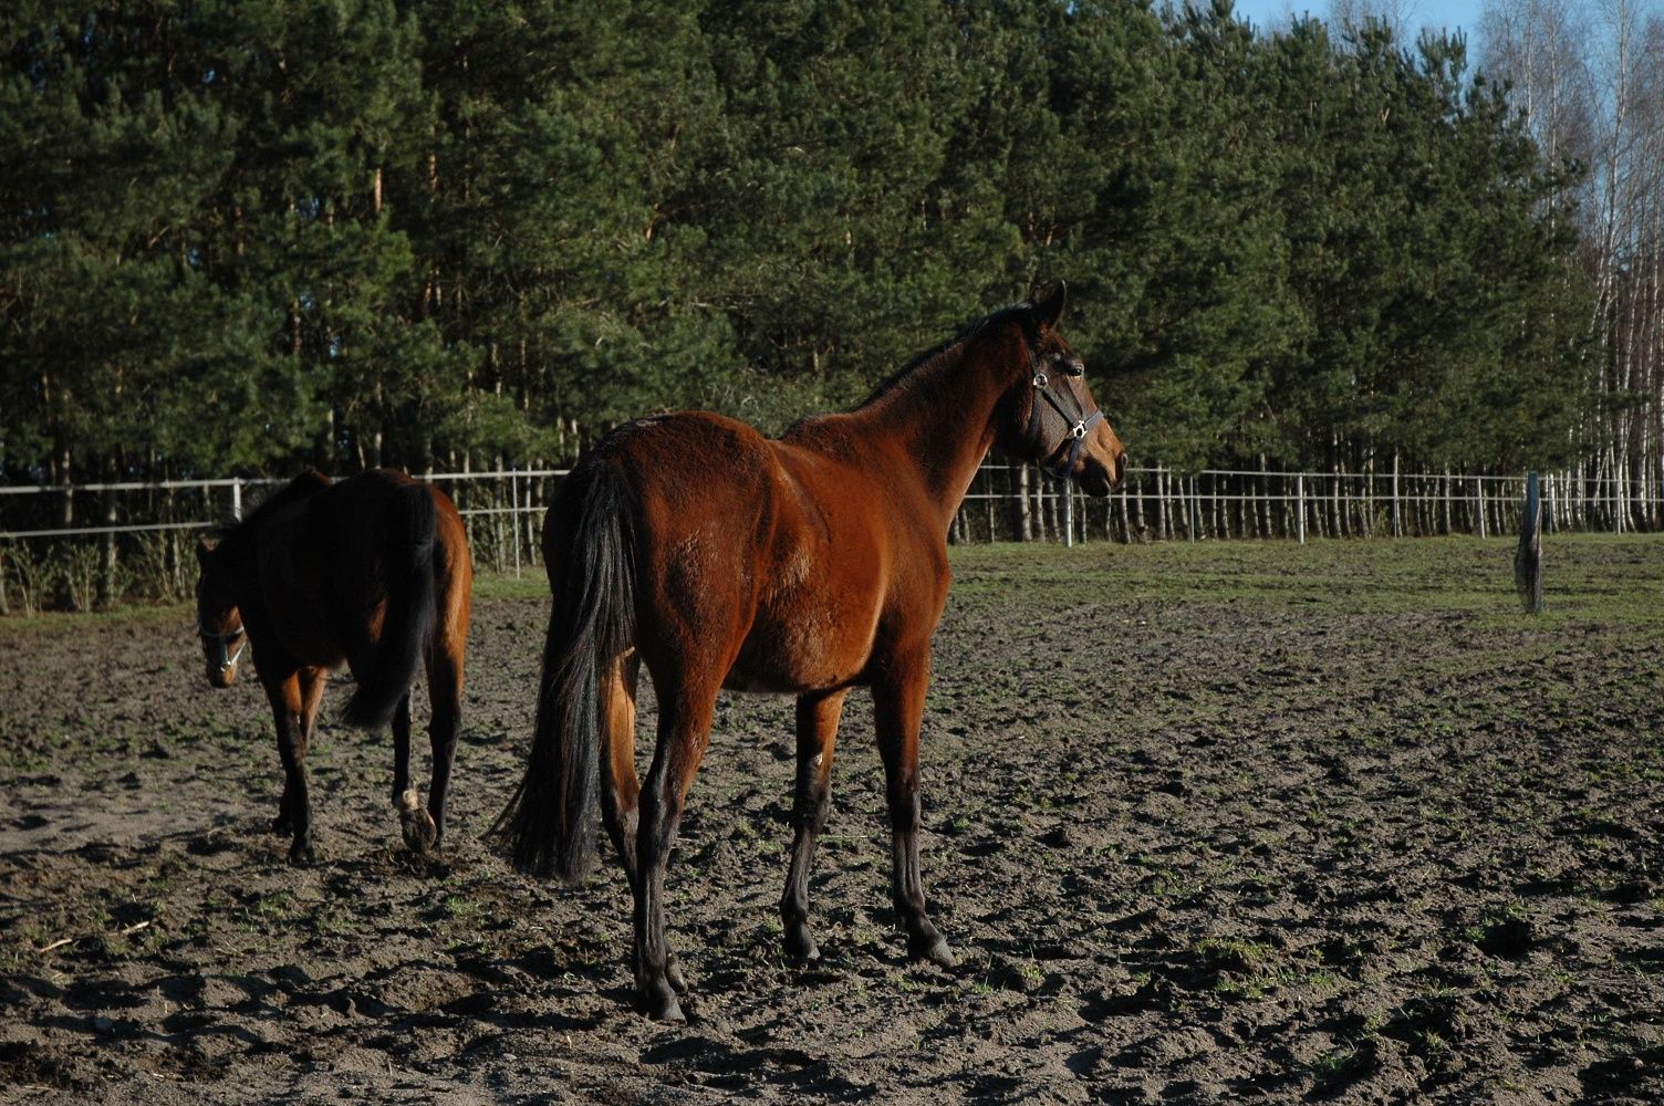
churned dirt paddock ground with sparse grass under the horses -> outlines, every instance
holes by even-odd
[[[1509,554],[955,551],[924,848],[960,966],[892,928],[864,699],[825,961],[784,963],[790,704],[724,699],[681,1028],[631,1011],[611,857],[572,891],[481,842],[537,582],[476,605],[441,860],[388,740],[326,725],[288,867],[263,700],[210,692],[188,610],[0,624],[0,1099],[1664,1101],[1664,539],[1549,539],[1536,619]]]

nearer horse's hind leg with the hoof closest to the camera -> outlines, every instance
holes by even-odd
[[[636,830],[636,991],[659,1021],[684,1021],[676,991],[686,983],[664,936],[664,868],[682,822],[687,788],[711,740],[717,689],[654,680],[659,689],[659,745],[641,792]],[[674,692],[669,689],[674,687]]]

